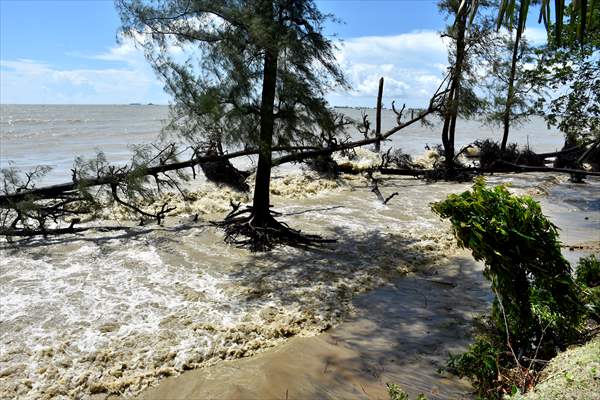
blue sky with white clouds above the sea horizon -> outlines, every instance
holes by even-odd
[[[385,97],[426,105],[447,67],[436,1],[321,0],[342,23],[325,33],[341,40],[338,61],[352,89],[332,105],[372,106],[380,76]],[[530,18],[526,35],[545,32]],[[533,21],[533,22],[532,22]],[[162,83],[130,41],[117,41],[112,0],[0,0],[0,103],[168,104]]]

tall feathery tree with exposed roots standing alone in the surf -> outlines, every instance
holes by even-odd
[[[144,46],[187,134],[259,149],[253,204],[220,223],[226,240],[254,251],[320,240],[275,220],[269,185],[275,146],[315,144],[337,128],[323,96],[347,84],[323,34],[329,16],[311,0],[117,0],[117,6],[123,32]]]

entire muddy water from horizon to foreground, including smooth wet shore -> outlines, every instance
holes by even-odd
[[[47,182],[62,181],[69,160],[93,154],[96,145],[123,162],[127,143],[156,137],[166,110],[5,107],[2,166],[8,159],[17,167],[43,161],[55,166]],[[477,134],[479,124],[464,126],[472,127],[466,136]],[[400,145],[436,142],[433,130],[415,129],[405,139],[418,137],[418,146]],[[559,143],[541,142],[542,150]],[[600,180],[488,180],[539,199],[562,228],[570,260],[600,249]],[[250,254],[226,246],[210,221],[223,218],[230,200],[248,202],[250,195],[202,180],[190,186],[190,201],[172,196],[177,210],[164,226],[138,227],[111,208],[97,221],[110,231],[2,240],[0,397],[130,398],[150,396],[145,390],[157,385],[169,397],[171,385],[189,388],[194,398],[202,379],[217,398],[285,398],[286,390],[289,398],[353,397],[358,390],[376,397],[385,395],[386,381],[409,393],[464,393],[464,382],[436,370],[448,350],[468,342],[470,321],[488,306],[489,292],[481,266],[456,248],[430,203],[469,186],[388,177],[381,191],[399,195],[382,205],[362,176],[327,180],[298,167],[278,169],[271,192],[280,218],[337,240],[312,251]],[[238,371],[240,384],[219,381],[234,379],[219,368]],[[194,378],[173,386],[177,378],[168,377],[182,373],[184,381]]]

